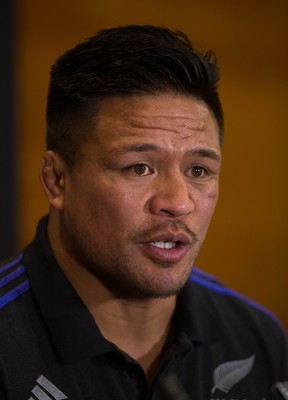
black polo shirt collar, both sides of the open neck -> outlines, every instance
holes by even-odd
[[[114,351],[59,267],[48,240],[47,221],[46,216],[39,222],[33,242],[24,251],[24,264],[59,356],[72,362]],[[193,343],[223,337],[206,297],[190,279],[178,296],[173,327],[177,336],[184,333]]]

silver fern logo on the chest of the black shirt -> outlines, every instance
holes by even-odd
[[[236,383],[245,378],[251,371],[254,364],[255,355],[244,360],[229,361],[220,364],[214,370],[214,386],[211,393],[216,389],[228,393]]]

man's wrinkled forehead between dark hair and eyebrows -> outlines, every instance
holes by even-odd
[[[219,129],[206,104],[172,94],[112,97],[101,102],[94,125],[98,145],[157,140],[174,146],[193,141],[219,148]]]

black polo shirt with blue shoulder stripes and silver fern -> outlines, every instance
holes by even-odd
[[[44,218],[24,252],[0,266],[1,400],[282,398],[288,353],[280,325],[197,268],[148,384],[137,362],[102,336],[59,268],[46,225]]]

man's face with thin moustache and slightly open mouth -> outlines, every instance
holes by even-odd
[[[187,281],[218,197],[218,126],[173,95],[104,100],[66,176],[66,250],[110,290],[165,297]]]

